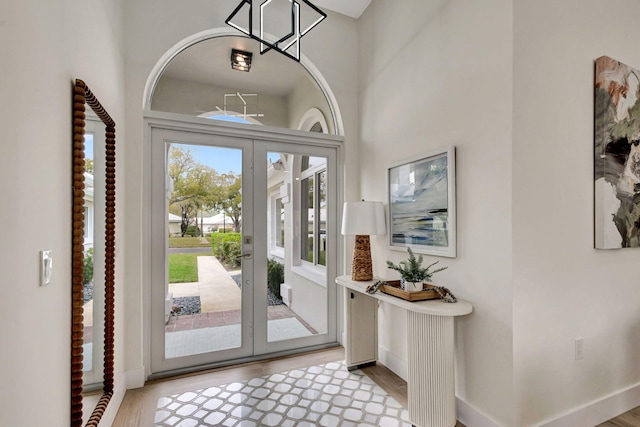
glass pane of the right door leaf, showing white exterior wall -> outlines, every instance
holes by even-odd
[[[266,174],[266,180],[256,180],[258,192],[266,187],[266,219],[262,222],[263,217],[256,215],[256,230],[266,230],[267,243],[258,246],[256,242],[256,265],[260,265],[259,255],[264,250],[267,274],[263,299],[256,272],[256,304],[266,308],[256,310],[255,316],[257,325],[266,324],[267,351],[335,340],[335,323],[330,320],[335,304],[327,270],[330,161],[300,150],[268,149],[264,172],[256,169],[258,176]],[[256,148],[256,163],[262,162],[259,152]],[[256,205],[259,203],[256,200]]]

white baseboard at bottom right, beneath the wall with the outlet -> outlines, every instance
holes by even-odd
[[[575,408],[536,427],[595,426],[640,406],[640,383]]]

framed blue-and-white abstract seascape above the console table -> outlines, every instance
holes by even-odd
[[[393,164],[387,171],[389,246],[455,257],[455,149]]]

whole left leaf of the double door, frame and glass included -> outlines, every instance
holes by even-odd
[[[250,252],[243,237],[253,226],[251,142],[195,132],[156,134],[152,370],[252,355],[253,265],[242,256]]]

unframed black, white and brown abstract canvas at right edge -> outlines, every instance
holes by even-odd
[[[640,246],[640,72],[595,61],[595,247]]]

